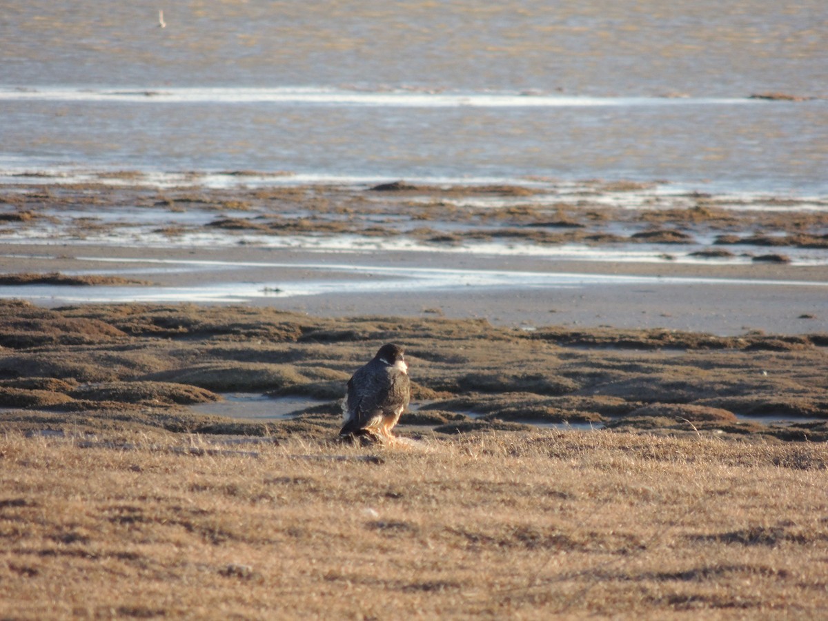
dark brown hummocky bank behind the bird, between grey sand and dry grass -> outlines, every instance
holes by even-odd
[[[431,433],[423,426],[456,433],[568,421],[828,440],[826,334],[527,332],[485,320],[320,318],[247,306],[45,309],[3,301],[0,308],[5,429],[328,436],[339,424],[350,373],[379,344],[396,341],[407,347],[417,406],[403,416],[402,434]],[[190,409],[226,392],[322,403],[290,421],[265,423]],[[802,420],[763,421],[792,417]]]

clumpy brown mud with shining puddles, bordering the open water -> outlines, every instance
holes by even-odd
[[[230,175],[230,173],[228,173]],[[261,176],[253,171],[234,177]],[[474,243],[539,247],[658,245],[696,258],[791,262],[792,249],[828,248],[828,199],[665,191],[657,183],[583,181],[536,185],[306,185],[158,189],[130,185],[6,185],[0,239],[136,238],[229,243],[353,236],[434,248]],[[118,178],[110,175],[109,181]],[[194,183],[198,177],[194,176]],[[159,216],[163,214],[163,216]],[[137,237],[136,237],[137,236]]]

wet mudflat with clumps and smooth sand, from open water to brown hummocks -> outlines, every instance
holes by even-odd
[[[0,296],[527,328],[828,331],[824,197],[600,181],[247,187],[258,176],[244,171],[229,189],[110,177],[4,186]]]

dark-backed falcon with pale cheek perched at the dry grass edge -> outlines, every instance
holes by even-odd
[[[339,439],[392,443],[391,430],[410,399],[405,349],[393,343],[384,344],[348,380],[342,399]]]

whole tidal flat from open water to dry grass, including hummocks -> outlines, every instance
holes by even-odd
[[[141,179],[2,190],[0,407],[21,423],[45,406],[203,431],[190,402],[230,392],[330,400],[327,420],[395,340],[417,416],[825,433],[819,197]]]

